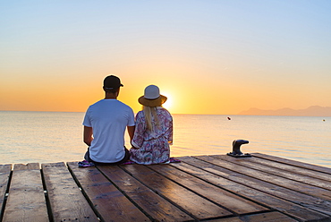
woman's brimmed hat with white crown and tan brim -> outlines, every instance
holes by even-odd
[[[141,105],[146,107],[160,107],[165,103],[166,97],[160,95],[160,90],[155,85],[145,88],[144,95],[138,98]]]

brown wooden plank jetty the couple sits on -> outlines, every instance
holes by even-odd
[[[331,168],[251,155],[2,165],[1,221],[331,221]]]

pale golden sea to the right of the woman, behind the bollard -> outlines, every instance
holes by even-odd
[[[233,140],[243,139],[250,141],[243,152],[331,166],[330,117],[174,115],[174,120],[174,156],[225,154]]]

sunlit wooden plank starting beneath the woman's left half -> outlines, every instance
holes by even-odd
[[[126,165],[121,166],[135,178],[147,185],[151,190],[165,197],[168,201],[185,209],[198,219],[220,218],[233,215],[226,209],[217,206],[194,192],[191,192],[173,181],[157,174],[147,166]]]

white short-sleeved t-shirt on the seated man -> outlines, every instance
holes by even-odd
[[[134,125],[132,108],[117,99],[102,99],[89,106],[83,125],[92,127],[89,157],[97,162],[115,163],[124,158],[124,132]]]

